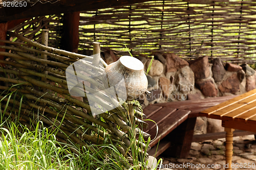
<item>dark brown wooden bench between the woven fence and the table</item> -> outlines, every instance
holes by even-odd
[[[185,158],[189,154],[191,142],[223,138],[225,132],[194,136],[196,119],[199,116],[199,112],[236,96],[222,96],[197,101],[159,103],[147,106],[143,109],[143,113],[146,114],[147,119],[154,120],[158,125],[158,134],[156,136],[157,127],[155,123],[145,121],[148,123],[149,128],[143,131],[151,134],[151,139],[156,136],[150,142],[152,149],[148,154],[156,157],[160,154],[166,154],[172,157]],[[245,131],[234,133],[237,136],[248,134],[253,133]]]

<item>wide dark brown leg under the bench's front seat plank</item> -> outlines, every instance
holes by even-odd
[[[163,153],[163,155],[178,158],[185,158],[188,156],[196,120],[197,117],[186,119],[166,136],[171,142],[171,146]]]

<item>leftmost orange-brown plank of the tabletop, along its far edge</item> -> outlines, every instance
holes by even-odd
[[[206,109],[204,111],[202,111],[201,113],[207,113],[207,114],[212,114],[212,113],[215,113],[221,109],[224,109],[230,105],[233,105],[233,104],[237,104],[238,102],[242,101],[242,100],[245,100],[247,98],[250,98],[251,96],[255,95],[256,94],[256,89],[253,89],[247,93],[244,93],[242,95],[239,95],[237,96],[236,98],[233,98],[233,99],[230,99],[226,102],[223,102],[217,106],[214,106],[214,107],[211,107],[209,109]]]

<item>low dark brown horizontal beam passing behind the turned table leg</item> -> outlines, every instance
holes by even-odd
[[[249,132],[249,131],[242,131],[242,130],[235,130],[233,131],[233,137],[236,136],[245,136],[245,135],[254,135],[256,132]],[[202,135],[194,135],[192,142],[200,142],[204,140],[216,140],[220,138],[225,138],[226,132],[217,132],[217,133],[207,133]]]

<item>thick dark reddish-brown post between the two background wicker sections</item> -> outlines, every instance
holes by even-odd
[[[80,12],[63,15],[63,35],[60,46],[69,52],[78,52]]]

